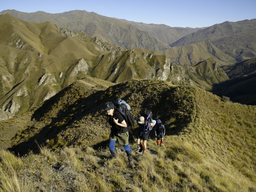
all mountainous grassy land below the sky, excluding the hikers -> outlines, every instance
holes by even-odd
[[[2,11],[0,190],[255,191],[254,30]],[[117,98],[166,127],[144,156],[131,127],[136,169],[106,148],[103,108]]]

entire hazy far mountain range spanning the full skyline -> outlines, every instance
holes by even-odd
[[[59,14],[45,12],[23,13],[4,10],[17,18],[30,22],[50,21],[71,31],[83,31],[97,36],[102,41],[127,49],[142,48],[162,51],[174,46],[195,44],[209,40],[222,52],[237,61],[256,57],[256,19],[238,22],[223,22],[204,28],[169,27],[166,25],[144,24],[98,15],[85,10],[74,10]]]

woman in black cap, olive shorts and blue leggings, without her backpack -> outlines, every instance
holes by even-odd
[[[129,131],[125,119],[118,112],[113,103],[108,103],[105,107],[107,112],[106,120],[112,126],[109,134],[109,149],[112,157],[117,157],[117,150],[115,148],[115,142],[118,141],[120,145],[123,145],[123,148],[127,154],[129,166],[134,167],[132,159],[132,151],[129,146]]]

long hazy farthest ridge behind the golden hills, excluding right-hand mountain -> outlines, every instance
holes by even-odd
[[[16,10],[4,10],[22,20],[42,23],[50,21],[59,27],[71,31],[84,31],[89,36],[97,36],[103,41],[126,47],[160,51],[169,48],[169,44],[200,28],[169,27],[166,25],[130,22],[98,15],[85,10],[72,10],[64,13],[50,14],[42,11],[24,13]]]

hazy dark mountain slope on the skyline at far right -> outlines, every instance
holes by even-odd
[[[171,44],[171,47],[210,40],[224,53],[237,61],[256,56],[256,19],[216,24],[191,33]]]

